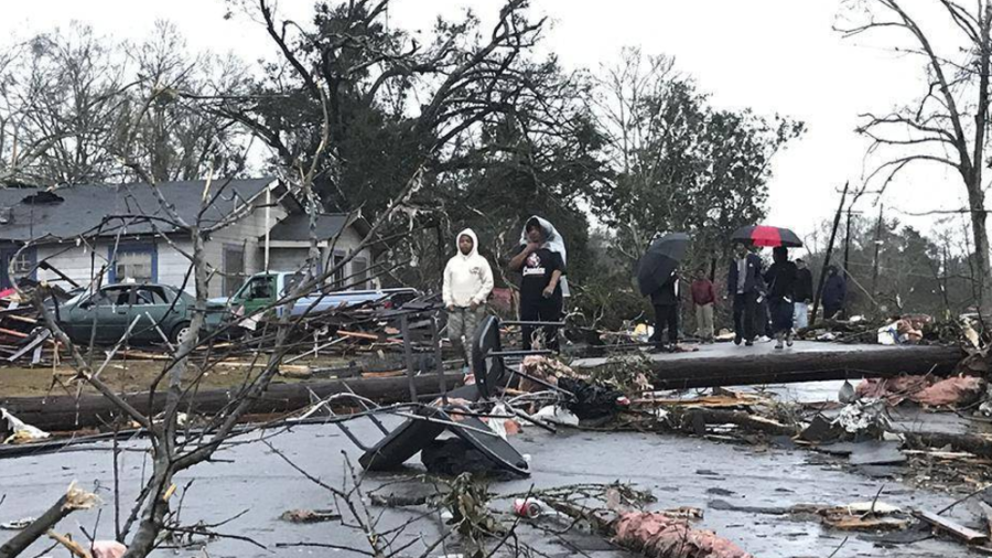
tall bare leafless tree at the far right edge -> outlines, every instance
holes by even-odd
[[[957,171],[971,215],[977,293],[988,305],[990,247],[983,172],[990,126],[992,2],[849,0],[840,20],[837,26],[844,36],[885,33],[897,52],[920,58],[927,85],[914,104],[889,114],[863,115],[858,130],[871,138],[870,152],[884,158],[867,180],[884,190],[914,163]],[[945,29],[951,29],[953,36],[941,41]]]

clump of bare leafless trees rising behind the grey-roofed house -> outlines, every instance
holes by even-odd
[[[235,95],[246,75],[233,56],[188,52],[165,22],[138,44],[73,24],[12,45],[0,57],[0,182],[136,180],[121,154],[159,182],[244,165],[244,128],[191,110],[179,92]],[[148,98],[154,105],[141,114]]]

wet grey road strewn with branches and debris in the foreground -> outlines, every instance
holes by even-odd
[[[364,439],[373,440],[376,431],[367,422],[355,423],[355,430]],[[247,441],[247,440],[246,440]],[[719,444],[681,437],[637,433],[583,433],[562,432],[552,436],[529,429],[513,439],[521,453],[532,459],[530,479],[494,483],[490,490],[500,493],[526,492],[531,485],[552,487],[586,482],[633,482],[651,490],[658,497],[658,507],[698,506],[705,511],[701,523],[704,528],[716,530],[758,557],[827,557],[844,539],[845,535],[827,532],[812,523],[800,523],[787,517],[727,512],[709,507],[715,500],[738,506],[789,506],[792,504],[842,505],[871,501],[883,482],[845,472],[835,464],[813,464],[813,454],[797,450],[768,450],[763,448]],[[129,444],[138,449],[141,442]],[[344,482],[346,452],[357,462],[359,452],[334,427],[301,427],[283,433],[272,443],[300,466],[322,477],[328,484],[341,486]],[[0,470],[0,494],[7,501],[0,505],[0,521],[23,516],[36,516],[47,508],[73,480],[84,487],[98,484],[105,504],[98,525],[99,538],[109,538],[112,532],[111,454],[108,444],[84,448],[61,454],[7,460]],[[208,547],[211,557],[295,557],[344,556],[346,552],[319,548],[276,548],[277,543],[332,543],[362,547],[363,537],[355,530],[335,524],[292,525],[278,519],[290,508],[326,508],[331,500],[310,481],[303,479],[288,464],[260,443],[242,444],[217,454],[217,462],[197,466],[187,472],[181,486],[193,479],[184,497],[182,518],[184,524],[200,521],[219,522],[246,511],[220,532],[249,536],[268,547],[262,550],[245,543],[218,540]],[[142,477],[143,458],[139,452],[123,455],[122,486],[125,503],[133,501]],[[411,469],[417,472],[417,469]],[[395,482],[403,474],[369,475],[363,487],[368,490],[382,483]],[[424,490],[398,486],[392,492]],[[939,509],[952,502],[948,496],[915,491],[908,486],[887,482],[880,501],[899,506],[919,506]],[[508,508],[506,501],[498,502]],[[123,512],[127,513],[127,509]],[[74,529],[76,523],[93,529],[97,513],[85,512],[63,522],[63,529]],[[411,515],[389,512],[384,515],[380,530],[407,521]],[[962,509],[957,516],[971,521]],[[421,538],[431,541],[439,533],[436,522],[425,519],[408,529],[397,546]],[[78,535],[78,530],[76,529]],[[0,539],[6,538],[0,533]],[[623,551],[608,548],[593,537],[578,537],[569,543],[549,540],[525,529],[525,541],[542,540],[541,550],[549,556],[565,557],[575,554],[594,558],[622,556]],[[32,548],[33,556],[41,545]],[[423,543],[417,543],[405,556],[420,556]],[[439,547],[430,552],[440,557],[451,549]],[[165,551],[160,552],[165,556]],[[946,541],[929,540],[892,549],[876,548],[871,543],[851,536],[834,556],[899,556],[940,557],[966,556],[963,547]],[[177,556],[203,556],[196,551],[180,551]]]

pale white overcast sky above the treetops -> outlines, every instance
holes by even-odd
[[[916,0],[917,2],[919,0]],[[438,14],[471,7],[492,18],[499,0],[395,0],[390,24],[428,30]],[[305,20],[311,0],[282,0],[280,10]],[[621,47],[675,56],[713,103],[804,120],[806,136],[775,161],[768,222],[810,233],[832,216],[837,190],[860,184],[866,142],[858,115],[885,111],[919,96],[919,65],[892,52],[843,39],[832,30],[838,0],[532,0],[552,20],[547,45],[570,67],[595,71]],[[98,32],[139,39],[157,19],[177,24],[195,50],[231,51],[246,61],[269,55],[262,30],[225,21],[223,0],[32,0],[8,2],[0,34],[25,37],[72,20]],[[942,170],[914,174],[891,189],[886,207],[918,212],[961,205],[960,182]],[[871,201],[864,210],[874,213]],[[914,219],[927,228],[931,219]]]

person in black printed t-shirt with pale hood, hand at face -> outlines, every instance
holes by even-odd
[[[527,244],[517,247],[509,268],[521,275],[520,320],[557,322],[561,320],[561,255],[544,246],[547,235],[537,219],[527,223]],[[533,328],[524,326],[524,350],[529,351]],[[558,328],[543,328],[543,347],[558,350]]]

